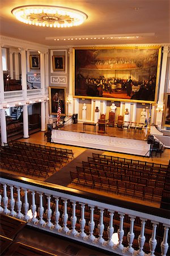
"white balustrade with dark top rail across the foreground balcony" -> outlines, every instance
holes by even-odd
[[[28,225],[119,255],[155,255],[155,250],[156,255],[168,255],[170,222],[165,210],[159,209],[165,216],[160,217],[140,212],[137,204],[135,209],[130,203],[121,207],[108,197],[97,200],[92,193],[14,175],[2,174],[0,181],[0,212]]]

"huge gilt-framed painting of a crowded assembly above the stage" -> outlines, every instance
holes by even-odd
[[[155,102],[161,47],[74,48],[74,97]]]

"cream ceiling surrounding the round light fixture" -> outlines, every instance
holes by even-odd
[[[170,0],[0,1],[1,35],[46,46],[166,44],[170,42]],[[78,9],[86,13],[88,18],[78,27],[46,28],[21,23],[11,14],[11,10],[15,7],[36,4]],[[96,39],[90,39],[94,35],[96,35]],[[107,39],[108,35],[112,35],[113,39]],[[139,38],[118,38],[123,35],[136,35]],[[76,38],[76,36],[82,39],[71,41],[71,38]],[[46,40],[49,37],[52,39]],[[62,40],[54,40],[58,37]]]

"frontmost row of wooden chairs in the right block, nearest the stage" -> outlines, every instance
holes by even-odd
[[[124,162],[124,163],[129,163],[129,164],[138,164],[142,166],[147,166],[147,167],[154,167],[154,168],[161,168],[163,170],[170,170],[170,166],[167,164],[158,164],[158,163],[150,163],[146,161],[141,161],[141,160],[134,160],[134,159],[126,159],[126,158],[120,158],[118,156],[111,156],[111,155],[101,155],[101,154],[96,154],[92,153],[93,158],[102,158],[102,159],[107,159],[114,161],[116,160],[117,162]]]

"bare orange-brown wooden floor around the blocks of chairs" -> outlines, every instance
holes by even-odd
[[[127,133],[127,131],[126,131]],[[129,133],[129,132],[128,132]],[[86,151],[87,148],[82,148],[82,147],[74,147],[74,146],[66,146],[65,144],[56,144],[56,143],[49,143],[46,142],[44,139],[44,132],[38,132],[35,134],[32,134],[28,139],[19,139],[19,141],[24,141],[24,142],[30,142],[30,143],[37,143],[37,144],[42,144],[42,145],[48,145],[48,146],[52,146],[52,147],[60,147],[60,148],[67,148],[67,149],[71,149],[74,152],[74,158],[76,158],[77,156],[79,156],[80,154],[82,154],[84,151]],[[135,155],[129,155],[129,154],[121,154],[121,153],[117,153],[117,152],[111,152],[111,151],[101,151],[101,154],[105,154],[105,155],[114,155],[114,156],[119,156],[121,158],[127,158],[127,159],[137,159],[137,160],[142,160],[142,161],[146,161],[146,162],[154,162],[154,163],[161,163],[161,164],[168,164],[169,163],[169,156],[170,156],[170,149],[166,148],[164,150],[164,152],[162,153],[162,157],[158,157],[158,156],[153,156],[153,158],[143,158],[142,156],[135,156]],[[69,163],[66,163],[69,164]],[[69,167],[69,166],[68,166]],[[8,172],[6,170],[2,170],[5,172]],[[14,172],[11,172],[12,174],[14,174]],[[21,174],[17,174],[16,175],[21,175]],[[25,176],[22,174],[22,176]],[[29,176],[27,176],[29,177]],[[32,178],[32,176],[30,176]],[[42,180],[45,181],[44,178],[42,177],[33,177],[33,179],[38,179],[38,180]],[[89,191],[89,192],[93,192],[93,193],[97,193],[97,194],[101,194],[101,195],[105,195],[108,197],[112,197],[112,198],[119,198],[122,200],[126,200],[126,201],[134,201],[133,199],[131,199],[130,197],[125,197],[125,196],[120,196],[120,195],[114,195],[113,193],[107,193],[104,191],[96,191],[95,189],[91,189],[91,188],[87,188],[87,187],[82,187],[82,186],[78,186],[75,184],[69,184],[67,185],[67,187],[70,188],[76,188],[76,189],[80,189],[82,191]],[[135,200],[135,202],[139,203],[139,204],[143,204],[143,205],[152,205],[152,207],[156,207],[159,208],[160,207],[160,202],[150,202],[150,201],[143,201],[143,200]]]

